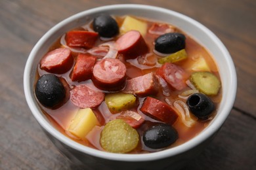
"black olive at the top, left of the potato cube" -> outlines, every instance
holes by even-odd
[[[93,29],[98,32],[100,37],[111,38],[119,33],[116,20],[110,15],[96,16],[93,20]]]

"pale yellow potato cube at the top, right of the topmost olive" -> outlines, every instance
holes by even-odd
[[[123,24],[120,27],[120,33],[126,33],[127,31],[137,30],[142,36],[146,35],[147,24],[137,20],[131,16],[126,16],[123,20]]]

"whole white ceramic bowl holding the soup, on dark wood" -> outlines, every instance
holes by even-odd
[[[74,27],[84,25],[92,18],[102,13],[117,16],[132,14],[134,16],[150,18],[152,20],[176,25],[209,50],[219,66],[223,99],[217,115],[211,121],[211,124],[209,124],[209,126],[199,135],[184,144],[160,152],[149,154],[112,154],[76,143],[52,126],[49,120],[41,112],[33,93],[37,64],[43,54],[47,52],[51,44],[53,44],[58,37]],[[26,100],[37,122],[43,127],[45,133],[47,133],[60,152],[64,153],[75,163],[82,163],[91,169],[131,170],[163,169],[167,167],[171,169],[181,168],[185,165],[186,161],[194,158],[200,153],[223,125],[234,104],[236,84],[236,71],[232,58],[216,35],[188,16],[184,16],[172,10],[147,5],[110,5],[86,10],[67,18],[45,33],[37,44],[35,44],[24,71],[24,92]]]

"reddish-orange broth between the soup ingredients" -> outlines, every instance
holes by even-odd
[[[147,24],[147,30],[150,29],[150,27],[152,27],[152,25],[154,25],[156,23],[160,24],[156,21],[148,20],[145,18],[137,18],[135,16],[133,16],[133,17],[136,18],[137,20],[145,22]],[[116,19],[119,27],[121,27],[121,25],[123,24],[124,18],[125,18],[125,16],[115,16],[115,19]],[[179,61],[179,62],[175,63],[175,65],[179,65],[179,67],[184,69],[184,71],[188,75],[191,75],[193,72],[195,72],[191,69],[195,60],[197,58],[202,57],[203,59],[205,59],[211,73],[213,73],[215,76],[217,76],[219,78],[217,65],[215,64],[215,61],[214,61],[213,57],[211,56],[211,54],[209,54],[209,52],[207,52],[207,50],[205,50],[205,48],[201,44],[194,41],[194,39],[192,39],[192,37],[190,37],[190,36],[186,35],[186,33],[182,32],[181,29],[175,27],[174,25],[170,25],[170,24],[168,24],[168,25],[171,27],[171,29],[173,29],[172,31],[175,31],[178,33],[183,33],[186,36],[185,50],[186,50],[188,58],[184,59],[183,61]],[[86,30],[86,29],[87,30],[89,29],[89,31],[92,30],[91,22],[89,24],[84,25],[83,27],[75,28],[74,30]],[[116,35],[114,37],[114,39],[110,39],[107,41],[106,40],[102,41],[102,39],[97,39],[94,47],[99,46],[100,44],[105,43],[105,42],[116,41],[120,36],[121,35],[119,33],[119,35]],[[150,56],[150,58],[148,58],[148,60],[149,60],[148,65],[143,65],[143,64],[139,63],[139,59],[141,59],[141,56],[139,57],[139,59],[138,58],[125,59],[125,58],[123,58],[123,55],[117,54],[117,58],[119,58],[125,64],[125,67],[127,68],[127,72],[126,72],[127,79],[135,78],[137,76],[146,75],[147,73],[151,73],[151,72],[155,73],[155,71],[158,69],[158,67],[160,67],[159,65],[154,64],[154,62],[150,63],[150,61],[154,61],[154,59],[161,58],[160,56],[158,56],[157,54],[154,53],[154,41],[159,36],[160,35],[154,35],[152,33],[149,33],[149,31],[147,31],[147,33],[143,36],[143,38],[146,41],[146,44],[148,45],[148,48],[149,48],[148,56]],[[56,42],[51,46],[49,51],[62,47],[63,43],[66,43],[64,36],[62,36],[62,37],[60,37],[60,39],[56,40]],[[74,51],[74,49],[76,49],[77,51]],[[77,58],[77,55],[79,53],[88,54],[87,50],[89,50],[89,49],[73,48],[72,57],[74,58],[74,61]],[[91,55],[91,54],[89,54],[89,55]],[[98,60],[100,60],[101,58],[103,58],[103,57],[98,56]],[[150,60],[150,59],[152,59],[152,60]],[[108,107],[106,106],[106,103],[103,101],[98,107],[93,109],[93,112],[95,113],[96,118],[98,119],[98,122],[100,123],[101,127],[95,128],[95,129],[93,129],[93,131],[91,131],[89,133],[90,140],[88,140],[87,138],[81,140],[81,139],[78,139],[77,137],[75,137],[74,135],[72,135],[71,133],[69,133],[66,129],[68,129],[70,122],[74,118],[77,110],[79,110],[79,107],[75,106],[72,103],[72,101],[70,101],[70,90],[72,90],[75,86],[78,86],[79,84],[89,84],[89,86],[93,86],[93,88],[96,88],[91,79],[81,81],[81,82],[72,81],[70,78],[71,73],[72,73],[72,69],[70,69],[70,71],[68,71],[64,74],[55,74],[56,76],[60,77],[60,79],[62,80],[62,82],[64,83],[64,86],[66,88],[66,99],[61,104],[61,106],[58,108],[51,109],[51,108],[44,107],[43,105],[41,105],[39,103],[39,105],[41,106],[41,110],[47,116],[47,118],[53,124],[53,126],[56,127],[56,129],[58,129],[61,133],[63,133],[67,137],[70,137],[77,143],[84,144],[85,146],[89,146],[91,148],[96,148],[98,150],[103,150],[102,147],[100,146],[100,142],[99,142],[100,131],[102,130],[102,128],[104,127],[104,125],[107,122],[115,119],[119,115],[119,113],[112,114],[110,112],[110,110],[108,109]],[[38,65],[37,76],[35,78],[35,82],[37,82],[37,80],[39,79],[39,76],[42,76],[45,74],[49,74],[49,73],[47,71],[41,69],[40,65]],[[156,95],[154,95],[154,97],[156,97],[157,99],[160,99],[164,103],[167,103],[168,105],[170,105],[171,108],[173,108],[174,110],[177,111],[177,109],[173,106],[173,103],[177,100],[181,100],[184,103],[186,103],[186,99],[182,99],[181,97],[179,97],[179,95],[181,95],[182,92],[185,92],[190,89],[191,88],[189,86],[186,86],[186,88],[184,88],[182,90],[173,90],[172,88],[168,88],[167,91],[169,93],[166,94],[166,92],[163,92],[162,88],[159,88],[158,93],[156,93]],[[110,93],[110,92],[104,90],[104,93]],[[137,105],[135,107],[131,108],[130,110],[133,110],[133,111],[137,112],[138,114],[140,114],[140,116],[142,116],[142,118],[144,118],[145,121],[140,127],[137,128],[137,131],[140,135],[139,144],[137,145],[137,147],[135,149],[133,149],[129,153],[140,154],[140,153],[146,153],[146,152],[156,152],[158,149],[150,149],[150,148],[147,148],[146,146],[144,146],[144,144],[142,143],[141,136],[142,136],[143,131],[145,131],[145,129],[152,126],[152,124],[156,124],[156,122],[160,122],[160,121],[154,120],[153,118],[150,118],[150,117],[146,116],[145,114],[143,114],[140,111],[140,107],[141,107],[145,97],[139,97],[139,96],[136,96],[136,97],[137,97]],[[221,101],[221,97],[222,97],[221,90],[219,90],[219,93],[217,95],[213,95],[210,97],[213,100],[213,102],[215,103],[216,108],[218,109],[218,105],[219,105],[219,102]],[[186,143],[186,141],[189,141],[190,139],[192,139],[193,137],[198,135],[198,133],[200,133],[200,131],[202,131],[205,127],[208,126],[208,124],[211,122],[211,119],[214,118],[216,112],[217,112],[216,110],[213,111],[213,114],[211,114],[210,118],[208,118],[207,120],[196,120],[195,124],[192,127],[185,126],[184,123],[182,122],[181,115],[179,114],[179,118],[177,118],[176,122],[172,125],[177,130],[177,132],[179,134],[179,138],[177,139],[177,141],[174,144],[167,146],[167,148],[171,148],[171,147],[177,146],[179,144]],[[166,149],[166,148],[164,148],[164,149]],[[160,150],[162,150],[162,149],[160,149]]]

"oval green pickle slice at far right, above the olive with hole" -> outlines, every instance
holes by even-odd
[[[190,76],[190,82],[205,95],[216,95],[221,88],[221,82],[217,76],[209,72],[195,72]]]

